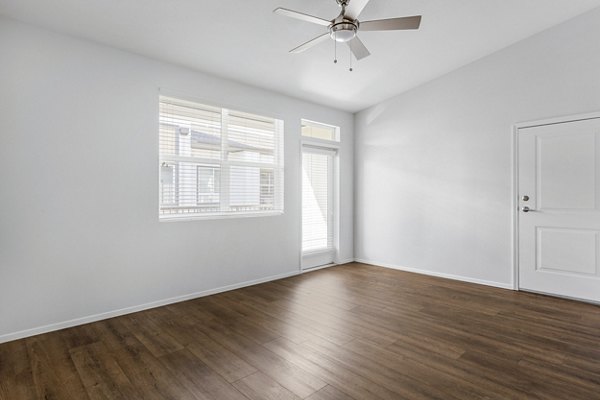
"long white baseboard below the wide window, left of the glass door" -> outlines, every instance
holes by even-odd
[[[89,324],[90,322],[101,321],[103,319],[114,318],[125,314],[131,314],[138,311],[148,310],[150,308],[156,308],[160,306],[166,306],[168,304],[179,303],[186,300],[193,300],[199,297],[210,296],[212,294],[227,292],[230,290],[240,289],[246,286],[253,286],[259,283],[265,283],[270,281],[275,281],[278,279],[288,278],[290,276],[298,275],[300,271],[287,272],[279,275],[272,275],[266,278],[254,279],[251,281],[236,283],[233,285],[222,286],[216,289],[204,290],[201,292],[190,293],[183,296],[171,297],[168,299],[157,300],[146,304],[140,304],[137,306],[131,306],[126,308],[121,308],[119,310],[108,311],[100,314],[89,315],[86,317],[75,318],[68,321],[56,322],[53,324],[48,324],[44,326],[40,326],[37,328],[25,329],[19,332],[7,333],[4,335],[0,335],[0,343],[10,342],[13,340],[23,339],[30,336],[39,335],[42,333],[48,333],[52,331],[57,331],[60,329],[71,328],[77,325]]]

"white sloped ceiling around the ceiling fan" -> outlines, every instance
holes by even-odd
[[[600,6],[600,0],[371,0],[362,20],[422,14],[419,31],[363,32],[371,56],[348,71],[326,28],[335,0],[0,0],[0,14],[335,108],[358,111]]]

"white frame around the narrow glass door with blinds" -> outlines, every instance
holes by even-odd
[[[302,154],[304,153],[304,148],[313,148],[321,151],[327,151],[333,153],[333,181],[332,181],[332,191],[333,191],[333,248],[334,248],[334,258],[333,263],[321,265],[312,268],[303,268],[302,267],[302,259],[304,257],[304,253],[302,251],[302,173],[303,173],[303,165],[302,165]],[[300,260],[299,260],[299,269],[300,273],[315,271],[322,268],[327,268],[333,265],[336,265],[339,262],[340,257],[340,143],[333,142],[329,140],[321,140],[303,137],[300,140]]]

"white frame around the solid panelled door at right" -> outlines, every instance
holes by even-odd
[[[519,286],[519,130],[545,125],[557,125],[569,122],[599,119],[600,111],[587,114],[566,115],[562,117],[547,118],[534,121],[519,122],[512,127],[512,171],[511,171],[511,218],[512,218],[512,287],[520,290]]]

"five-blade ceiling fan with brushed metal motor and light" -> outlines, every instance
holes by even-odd
[[[347,43],[350,51],[354,54],[357,60],[369,56],[369,50],[363,42],[356,36],[358,31],[396,31],[419,29],[421,25],[421,16],[415,15],[412,17],[400,17],[389,19],[378,19],[374,21],[358,20],[360,13],[369,3],[369,0],[335,0],[342,8],[340,14],[334,19],[328,21],[323,18],[315,17],[310,14],[301,13],[298,11],[288,10],[287,8],[276,8],[274,13],[284,15],[286,17],[296,18],[301,21],[312,22],[326,26],[328,32],[317,36],[301,44],[300,46],[290,50],[290,53],[300,53],[310,49],[313,46],[331,38],[337,42]]]

